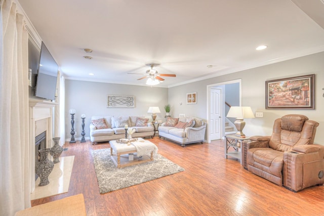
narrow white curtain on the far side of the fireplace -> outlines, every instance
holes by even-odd
[[[60,141],[63,146],[65,143],[65,78],[60,76]]]

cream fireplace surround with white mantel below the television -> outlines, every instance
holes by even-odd
[[[46,148],[53,146],[54,107],[57,103],[51,101],[29,101],[30,128],[30,185],[31,193],[35,190],[35,137],[46,132]]]

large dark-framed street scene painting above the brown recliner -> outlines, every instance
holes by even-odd
[[[266,109],[315,109],[315,74],[267,80]]]

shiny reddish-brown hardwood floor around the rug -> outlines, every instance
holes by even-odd
[[[100,194],[91,151],[109,148],[89,141],[65,143],[75,155],[69,191],[33,200],[32,206],[83,193],[88,215],[324,215],[324,186],[294,193],[224,158],[224,141],[181,147],[150,139],[158,153],[185,171]]]

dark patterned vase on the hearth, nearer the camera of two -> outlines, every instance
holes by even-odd
[[[45,186],[50,183],[49,175],[51,174],[54,163],[53,161],[47,158],[51,149],[40,149],[38,150],[39,154],[41,155],[41,160],[35,166],[35,173],[41,179],[38,186]]]

